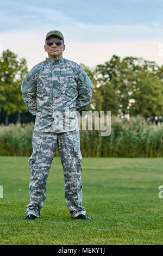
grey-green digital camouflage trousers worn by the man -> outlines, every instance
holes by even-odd
[[[33,154],[30,156],[29,205],[27,215],[40,216],[46,199],[47,178],[58,143],[65,179],[65,201],[72,218],[85,215],[82,207],[82,154],[79,130],[70,132],[33,132]]]

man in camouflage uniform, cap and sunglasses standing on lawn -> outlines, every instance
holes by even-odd
[[[83,68],[62,57],[64,36],[46,35],[48,58],[35,65],[22,82],[21,92],[30,113],[36,115],[33,154],[30,156],[30,203],[26,220],[34,220],[46,198],[47,177],[58,143],[65,179],[65,200],[72,218],[90,220],[82,206],[82,154],[76,111],[86,107],[92,82]]]

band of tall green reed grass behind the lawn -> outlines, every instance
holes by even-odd
[[[0,126],[1,156],[30,156],[34,124]],[[110,136],[80,130],[83,157],[163,157],[163,126],[141,118],[111,117]],[[59,156],[58,147],[56,156]]]

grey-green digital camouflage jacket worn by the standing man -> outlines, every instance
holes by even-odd
[[[79,129],[76,111],[90,103],[92,82],[77,63],[46,58],[24,77],[21,92],[35,131],[67,132]]]

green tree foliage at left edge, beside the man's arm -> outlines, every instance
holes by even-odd
[[[28,72],[24,58],[9,50],[3,51],[0,60],[0,111],[7,115],[27,111],[20,92],[21,82]]]

